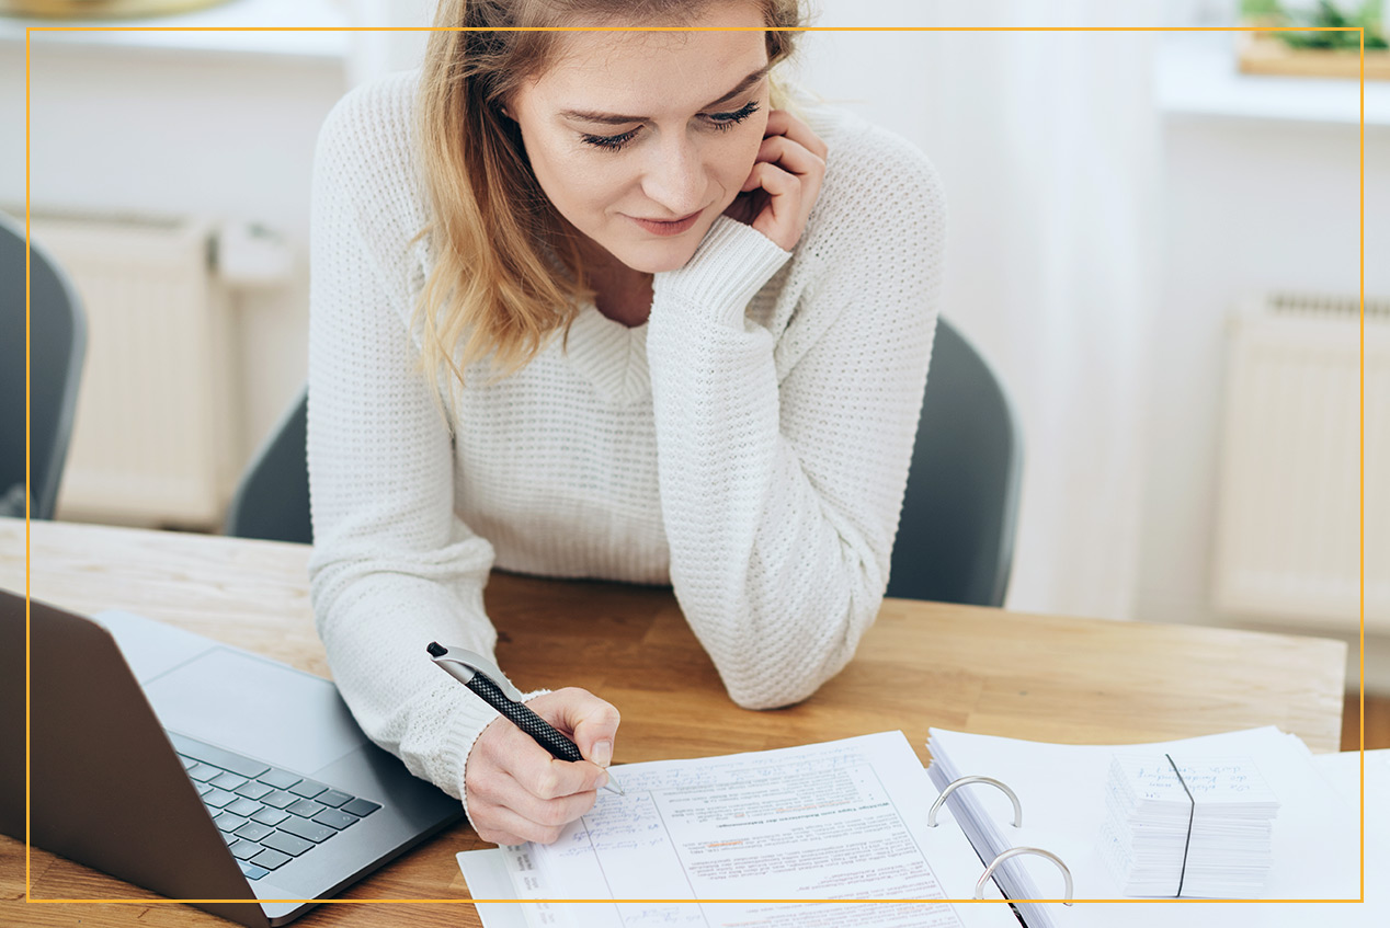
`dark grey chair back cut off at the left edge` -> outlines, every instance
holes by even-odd
[[[76,411],[86,315],[76,289],[29,243],[29,515],[53,518]],[[0,515],[24,517],[24,224],[0,213]]]

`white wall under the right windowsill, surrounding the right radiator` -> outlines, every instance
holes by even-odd
[[[1357,295],[1358,135],[1355,125],[1302,119],[1165,121],[1166,242],[1162,310],[1150,347],[1155,368],[1136,618],[1229,621],[1211,606],[1225,322],[1237,300],[1261,290]],[[1390,126],[1368,128],[1365,196],[1365,289],[1386,296]],[[1383,472],[1377,465],[1387,463],[1366,461],[1368,481]],[[1376,531],[1386,529],[1368,527]],[[1390,565],[1366,568],[1383,575]],[[1355,636],[1339,636],[1355,657]],[[1355,683],[1354,667],[1348,682]],[[1390,690],[1390,642],[1383,638],[1368,638],[1366,682]]]

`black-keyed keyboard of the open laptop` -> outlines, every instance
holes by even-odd
[[[381,809],[243,754],[168,736],[247,879],[284,867]]]

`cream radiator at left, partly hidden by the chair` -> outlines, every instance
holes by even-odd
[[[236,477],[239,418],[211,225],[36,215],[32,233],[88,314],[58,518],[215,528]]]

